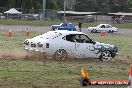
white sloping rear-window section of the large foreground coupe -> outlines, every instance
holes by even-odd
[[[54,32],[54,31],[50,31],[50,32],[44,33],[42,35],[39,35],[36,38],[54,39],[60,35],[62,35],[62,34],[58,33],[58,32]]]

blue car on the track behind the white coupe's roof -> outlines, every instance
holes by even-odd
[[[69,30],[69,31],[76,31],[76,26],[72,23],[61,23],[59,25],[52,25],[52,30]]]

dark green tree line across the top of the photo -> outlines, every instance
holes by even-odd
[[[74,11],[130,12],[132,8],[132,0],[66,0],[66,2],[66,10]],[[26,12],[29,9],[42,9],[43,0],[0,0],[0,6],[21,8]],[[46,9],[63,10],[64,0],[46,0]]]

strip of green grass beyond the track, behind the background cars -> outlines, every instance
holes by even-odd
[[[10,19],[4,19],[0,20],[0,24],[3,25],[28,25],[28,26],[51,26],[53,24],[60,24],[62,21],[57,20],[57,21],[25,21],[25,20],[10,20]],[[76,26],[78,25],[78,22],[71,22],[75,24]],[[103,23],[108,23],[108,22],[103,22]],[[100,22],[95,22],[95,23],[83,23],[83,27],[91,27],[91,26],[97,26],[100,24]],[[117,24],[117,23],[110,23],[112,26],[120,28],[120,29],[132,29],[132,23],[123,23],[123,24]]]

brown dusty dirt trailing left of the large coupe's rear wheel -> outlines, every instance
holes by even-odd
[[[43,61],[46,59],[51,59],[51,57],[46,57],[44,53],[33,53],[27,52],[25,50],[13,50],[13,51],[0,51],[0,59],[10,59],[10,60],[32,60],[32,61]]]

